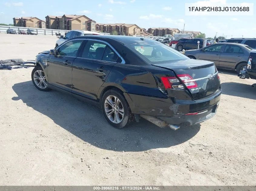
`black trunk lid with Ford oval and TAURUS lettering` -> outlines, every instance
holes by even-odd
[[[194,100],[207,97],[220,88],[218,71],[213,62],[187,59],[153,65],[175,72],[178,79],[182,81],[181,83],[188,89]],[[189,83],[192,83],[192,85],[190,84],[191,86],[188,86]],[[188,88],[185,84],[191,88]]]

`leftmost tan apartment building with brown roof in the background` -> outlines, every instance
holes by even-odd
[[[37,17],[22,17],[13,18],[13,25],[15,27],[32,27],[32,28],[42,28],[45,26],[44,21]]]

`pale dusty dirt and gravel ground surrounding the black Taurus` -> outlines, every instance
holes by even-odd
[[[35,59],[55,36],[0,34],[0,59]],[[101,111],[38,91],[32,68],[0,70],[0,185],[255,185],[255,80],[220,70],[210,120],[177,131],[115,129]]]

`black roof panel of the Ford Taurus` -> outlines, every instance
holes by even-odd
[[[81,37],[74,37],[73,39],[98,39],[98,40],[115,40],[123,44],[135,44],[135,43],[160,43],[156,40],[140,37],[122,36],[122,35],[86,35]],[[161,43],[160,43],[161,44]]]

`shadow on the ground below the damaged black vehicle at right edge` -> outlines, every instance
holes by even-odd
[[[222,94],[256,100],[256,88],[252,88],[248,84],[223,82],[221,83],[221,90]]]

